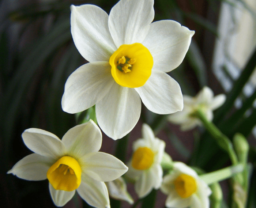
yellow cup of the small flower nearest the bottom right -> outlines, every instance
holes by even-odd
[[[196,181],[192,176],[187,174],[180,174],[174,180],[174,186],[181,198],[188,198],[196,192]]]

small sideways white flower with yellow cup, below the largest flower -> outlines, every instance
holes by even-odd
[[[165,150],[165,142],[156,138],[147,124],[142,126],[142,137],[133,143],[133,155],[126,173],[127,177],[136,181],[135,191],[140,198],[161,186],[161,161]]]

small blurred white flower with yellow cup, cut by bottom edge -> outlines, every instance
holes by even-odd
[[[169,208],[210,208],[211,189],[196,172],[182,162],[174,162],[173,170],[163,177],[161,191]]]

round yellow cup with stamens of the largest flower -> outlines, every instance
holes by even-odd
[[[140,43],[121,45],[109,58],[111,74],[123,87],[141,87],[151,75],[153,57]]]

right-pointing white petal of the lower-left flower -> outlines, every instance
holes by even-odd
[[[81,160],[83,172],[97,181],[113,181],[128,170],[121,160],[105,152],[92,152]]]

